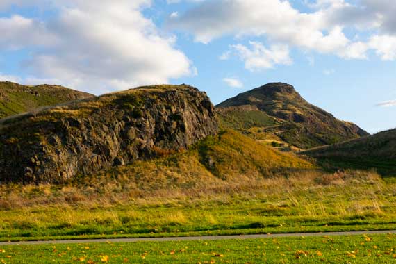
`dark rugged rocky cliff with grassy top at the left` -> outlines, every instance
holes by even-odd
[[[187,149],[217,132],[204,92],[158,85],[0,124],[0,181],[59,183]]]

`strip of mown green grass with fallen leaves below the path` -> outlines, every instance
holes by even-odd
[[[395,263],[396,236],[0,247],[0,263]]]

